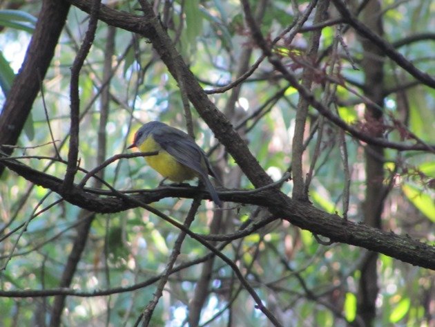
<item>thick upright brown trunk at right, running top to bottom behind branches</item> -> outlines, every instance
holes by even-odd
[[[362,17],[365,25],[376,35],[383,35],[382,17],[378,0],[370,0],[365,6]],[[383,50],[378,48],[371,39],[361,38],[363,44],[363,71],[365,73],[365,96],[383,108],[383,65],[385,57]],[[376,128],[383,124],[383,113],[375,106],[367,104],[365,118],[367,121],[368,133],[378,138],[382,137],[383,130]],[[375,228],[382,228],[381,215],[384,207],[383,200],[383,177],[384,177],[384,151],[382,147],[369,144],[365,149],[365,175],[366,190],[364,203],[364,222]],[[364,322],[364,326],[371,326],[376,317],[376,298],[378,297],[378,271],[376,265],[378,254],[371,252],[363,261],[361,266],[361,277],[358,283],[357,315]]]

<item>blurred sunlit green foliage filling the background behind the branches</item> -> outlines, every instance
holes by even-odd
[[[266,1],[266,9],[256,12],[262,1],[256,2],[251,1],[252,10],[258,17],[262,16],[258,19],[260,29],[269,42],[298,19],[296,8],[303,12],[309,4],[308,1],[292,1],[292,4],[284,0]],[[291,168],[300,93],[267,60],[242,80],[240,90],[239,86],[235,88],[240,93],[233,88],[213,92],[235,80],[238,72],[247,71],[262,55],[244,19],[241,4],[220,0],[155,3],[160,23],[166,27],[177,51],[201,86],[210,93],[209,99],[238,129],[267,174],[273,180],[279,180]],[[117,1],[113,6],[116,10],[141,15],[136,1]],[[16,64],[7,49],[23,39],[30,41],[26,35],[32,32],[35,24],[32,15],[37,16],[39,9],[36,3],[28,3],[23,4],[20,11],[0,11],[0,22],[7,27],[0,35],[1,42],[6,45],[0,53],[0,82],[4,93],[0,100],[3,103],[12,82],[12,67]],[[429,29],[431,12],[433,14],[434,5],[428,0],[385,1],[382,12],[384,39],[395,44],[407,37],[422,35]],[[330,8],[329,18],[335,19],[336,15]],[[305,26],[312,24],[313,14]],[[361,67],[360,39],[354,30],[344,31],[344,26],[347,25],[332,24],[322,29],[316,55],[321,60],[314,69],[311,89],[318,100],[327,104],[331,112],[349,126],[369,133],[377,127],[367,123],[363,114],[367,98],[363,96],[365,71]],[[53,159],[57,158],[54,144],[60,158],[67,160],[70,67],[87,28],[88,14],[72,6],[55,57],[43,78],[43,93],[39,93],[32,105],[26,128],[28,134],[21,135],[19,147],[14,150],[14,156],[23,157],[21,162],[58,178],[64,178],[66,163]],[[299,81],[302,80],[302,68],[313,65],[305,55],[311,33],[301,30],[294,39],[287,39],[289,34],[285,33],[273,48],[274,55],[298,74]],[[113,53],[107,48],[111,37],[115,44]],[[398,50],[420,71],[435,75],[433,42],[427,39],[409,41]],[[108,56],[112,59],[109,71],[104,66]],[[247,62],[242,64],[244,59]],[[423,144],[433,146],[434,88],[415,82],[414,77],[388,58],[384,72],[384,135],[391,142],[414,144],[415,140],[421,140]],[[108,25],[99,21],[95,41],[79,75],[79,167],[84,170],[77,172],[76,183],[87,171],[101,164],[98,150],[104,146],[99,140],[99,124],[106,110],[101,95],[108,76],[105,74],[110,76],[110,88],[108,121],[103,129],[106,133],[104,159],[128,153],[126,147],[131,144],[134,131],[144,122],[160,120],[186,130],[183,86],[168,71],[153,50],[153,44],[122,28],[116,28],[115,34],[110,36]],[[325,94],[331,95],[328,103]],[[224,187],[253,189],[252,181],[242,174],[224,147],[217,146],[218,140],[201,115],[193,108],[191,114],[195,140],[202,149],[209,151]],[[302,157],[304,178],[313,162],[309,198],[324,212],[346,214],[349,221],[362,222],[367,143],[320,117],[320,113],[310,106],[305,124],[305,140],[309,143]],[[309,137],[310,132],[312,137]],[[347,167],[342,155],[342,140],[347,149]],[[383,185],[387,196],[382,228],[434,244],[435,161],[433,148],[431,151],[385,149]],[[345,205],[346,169],[351,178],[348,209]],[[129,158],[108,165],[104,180],[115,189],[125,191],[153,189],[162,178],[145,165],[143,158]],[[97,187],[95,183],[95,179],[91,179],[86,187],[109,190],[106,186]],[[281,191],[291,196],[293,184],[284,183]],[[1,290],[4,291],[0,299],[3,326],[31,326],[37,321],[48,324],[56,294],[12,299],[13,295],[8,297],[7,292],[59,289],[79,228],[92,215],[59,200],[59,194],[35,186],[8,169],[1,176],[0,262],[1,267],[6,268],[0,275]],[[151,206],[183,223],[191,202],[189,198],[165,197]],[[208,200],[203,200],[190,230],[205,239],[209,234],[231,236],[246,228],[245,223],[269,215],[266,209],[240,203],[229,203],[220,211]],[[216,217],[220,220],[218,230],[211,223]],[[237,265],[262,303],[284,326],[347,326],[354,319],[358,322],[358,281],[369,252],[345,243],[324,245],[322,236],[280,219],[285,217],[276,218],[259,230],[231,239],[226,245],[224,241],[211,243]],[[66,298],[62,324],[133,326],[153,299],[158,283],[154,278],[164,272],[180,233],[179,228],[142,207],[96,214],[85,250],[67,287],[77,294]],[[210,259],[209,254],[197,240],[189,237],[184,240],[175,261],[175,268],[180,270],[168,276],[150,326],[186,326],[193,310],[189,303],[197,296],[197,283],[204,274],[203,267],[206,259]],[[431,297],[432,302],[434,299],[433,273],[385,255],[378,259],[377,271],[379,293],[375,326],[432,326],[435,312],[429,303]],[[202,290],[206,297],[200,324],[269,326],[270,321],[230,265],[216,258],[210,273],[211,279]],[[94,292],[103,290],[108,292],[94,296]]]

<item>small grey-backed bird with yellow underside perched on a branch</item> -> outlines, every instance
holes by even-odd
[[[127,149],[137,148],[142,152],[158,151],[155,156],[144,157],[148,165],[175,183],[199,178],[206,186],[213,202],[222,207],[218,193],[209,180],[209,175],[218,180],[211,168],[206,153],[187,133],[163,122],[143,124]]]

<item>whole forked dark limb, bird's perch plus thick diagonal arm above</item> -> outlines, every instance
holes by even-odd
[[[89,3],[86,1],[71,1],[77,4],[79,8],[90,10]],[[249,149],[247,149],[247,145],[235,133],[222,113],[206,97],[202,88],[197,84],[195,76],[193,76],[189,68],[182,61],[181,56],[178,55],[177,61],[173,63],[173,56],[170,53],[175,51],[175,49],[168,49],[168,46],[171,46],[171,40],[164,30],[157,31],[155,29],[155,26],[158,26],[158,20],[153,16],[152,10],[147,12],[147,15],[147,19],[144,20],[142,17],[136,18],[135,15],[110,10],[106,6],[101,6],[99,12],[99,17],[108,21],[108,23],[140,31],[142,35],[149,37],[157,52],[160,53],[162,60],[175,76],[176,70],[173,67],[174,64],[182,65],[182,77],[185,79],[184,83],[186,86],[189,86],[187,87],[189,90],[189,100],[195,105],[198,113],[213,129],[215,135],[226,146],[231,155],[233,155],[233,158],[237,160],[238,165],[247,174],[249,179],[253,181],[255,186],[259,187],[271,184],[269,176],[264,173],[262,167],[253,158]],[[3,165],[7,165],[10,169],[31,180],[33,183],[52,189],[63,196],[68,202],[79,207],[85,207],[91,211],[104,213],[119,212],[137,206],[135,203],[115,196],[99,198],[99,196],[74,185],[70,194],[64,194],[59,186],[61,185],[61,180],[58,178],[46,174],[41,175],[39,171],[30,169],[26,165],[13,160],[3,161]],[[197,189],[182,189],[180,191],[180,189],[170,188],[164,191],[159,190],[158,192],[151,191],[142,197],[139,196],[139,198],[143,198],[144,202],[149,203],[153,200],[158,200],[162,196],[193,197],[197,194],[197,191]],[[222,200],[268,207],[276,217],[286,218],[293,225],[310,230],[315,234],[329,237],[332,241],[365,247],[367,250],[380,252],[414,265],[435,270],[435,247],[420,243],[406,236],[398,236],[366,225],[343,221],[338,215],[328,214],[307,203],[291,200],[278,189],[264,189],[258,193],[253,194],[249,192],[248,194],[221,193],[220,196],[222,196]]]

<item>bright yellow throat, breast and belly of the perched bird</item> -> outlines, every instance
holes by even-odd
[[[193,169],[177,162],[173,156],[164,151],[152,136],[142,142],[138,148],[142,152],[159,151],[157,156],[148,156],[145,157],[145,160],[151,168],[173,182],[180,183],[183,180],[191,180],[197,176]]]

